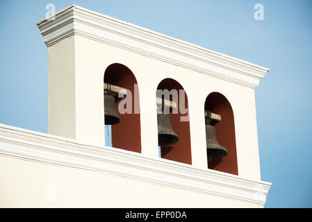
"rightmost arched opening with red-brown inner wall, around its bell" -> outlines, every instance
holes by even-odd
[[[227,148],[227,156],[217,160],[208,160],[208,169],[238,175],[234,116],[231,104],[218,92],[209,94],[205,101],[205,110],[221,116],[221,121],[211,121],[215,127],[217,142]],[[207,153],[208,154],[208,153]]]

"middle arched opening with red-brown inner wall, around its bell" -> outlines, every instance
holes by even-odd
[[[176,135],[178,135],[179,140],[172,145],[161,146],[161,157],[167,160],[192,164],[190,148],[190,121],[188,118],[188,96],[183,87],[172,78],[165,78],[161,81],[161,83],[159,83],[156,97],[161,99],[162,94],[165,99],[176,103],[177,108],[173,110],[170,109],[169,115],[172,130],[174,130]],[[167,96],[165,94],[167,94]]]

